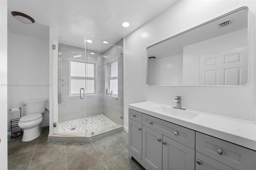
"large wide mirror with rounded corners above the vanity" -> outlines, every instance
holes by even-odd
[[[147,84],[248,83],[248,8],[241,7],[147,48]]]

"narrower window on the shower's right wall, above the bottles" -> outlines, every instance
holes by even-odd
[[[109,65],[110,77],[109,77],[109,86],[110,91],[113,90],[113,95],[118,95],[118,61],[110,63]]]

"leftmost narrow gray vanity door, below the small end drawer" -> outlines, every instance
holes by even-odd
[[[129,119],[129,149],[142,158],[142,124]]]

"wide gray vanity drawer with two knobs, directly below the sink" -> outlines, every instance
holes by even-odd
[[[195,148],[195,131],[173,123],[142,114],[142,125],[172,138],[192,149]]]

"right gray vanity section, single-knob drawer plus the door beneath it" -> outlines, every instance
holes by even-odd
[[[255,151],[200,132],[196,132],[196,151],[196,170],[210,166],[217,170],[256,170]]]

